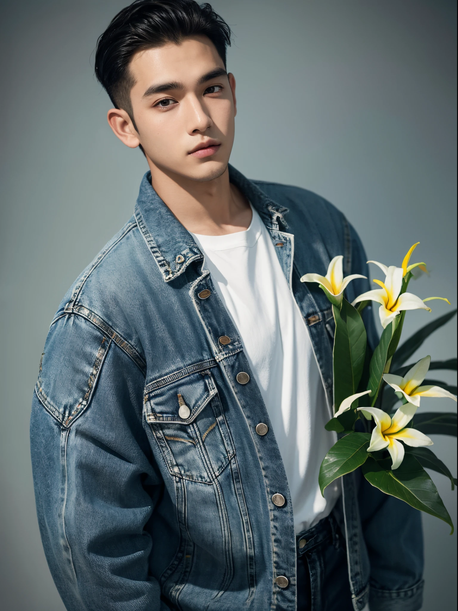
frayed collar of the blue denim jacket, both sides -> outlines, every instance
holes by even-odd
[[[229,166],[229,178],[250,200],[267,229],[280,229],[279,221],[287,227],[283,219],[287,208],[272,201],[232,166]],[[143,177],[134,214],[165,282],[180,276],[193,261],[203,260],[203,254],[191,233],[175,218],[151,186],[151,172]]]

